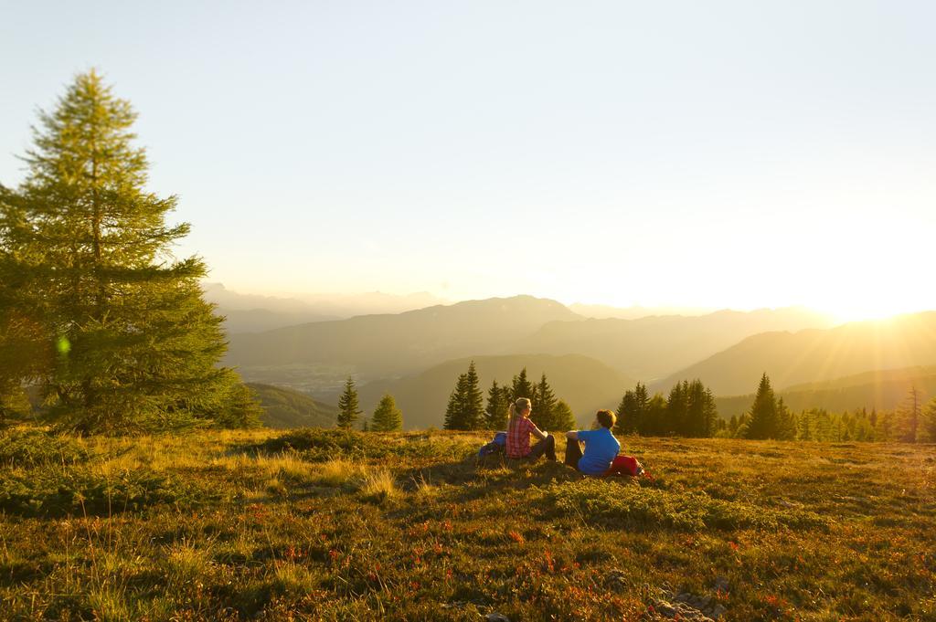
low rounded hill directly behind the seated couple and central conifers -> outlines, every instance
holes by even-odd
[[[617,408],[624,389],[634,384],[621,372],[578,354],[475,356],[447,361],[400,380],[365,384],[358,390],[361,407],[370,415],[384,393],[390,393],[402,409],[407,429],[442,427],[448,396],[471,360],[475,361],[485,398],[491,381],[510,383],[525,366],[531,381],[538,381],[545,372],[556,396],[568,402],[582,423],[592,421],[599,408]]]

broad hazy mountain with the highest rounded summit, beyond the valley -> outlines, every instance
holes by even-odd
[[[579,316],[553,300],[528,296],[470,300],[393,315],[365,315],[231,336],[227,362],[248,380],[256,369],[298,364],[350,366],[365,377],[413,373],[470,354],[509,350],[553,320]]]

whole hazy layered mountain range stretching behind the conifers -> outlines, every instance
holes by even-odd
[[[301,311],[285,305],[278,312]],[[485,389],[494,378],[509,383],[524,366],[536,377],[545,371],[557,396],[586,419],[596,408],[615,408],[636,380],[667,393],[695,378],[730,416],[750,406],[764,372],[796,409],[891,408],[911,376],[929,391],[928,366],[936,366],[933,311],[846,325],[802,308],[596,319],[554,300],[519,296],[229,339],[226,363],[248,381],[333,404],[351,375],[365,411],[390,393],[407,427],[441,427],[448,395],[473,358]]]

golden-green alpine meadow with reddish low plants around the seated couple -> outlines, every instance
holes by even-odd
[[[0,432],[0,618],[936,619],[933,445],[489,438]]]

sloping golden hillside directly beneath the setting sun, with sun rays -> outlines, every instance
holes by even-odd
[[[755,335],[654,383],[700,378],[716,395],[744,395],[765,371],[775,388],[834,380],[872,369],[936,365],[936,311],[856,322],[828,330]]]

